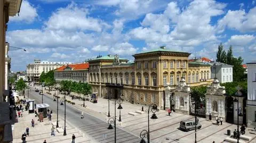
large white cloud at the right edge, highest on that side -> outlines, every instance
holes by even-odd
[[[256,7],[248,13],[245,10],[228,10],[227,14],[218,21],[218,30],[223,32],[226,27],[241,32],[256,31]]]

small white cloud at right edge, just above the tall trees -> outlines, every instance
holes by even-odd
[[[256,38],[253,35],[233,35],[227,41],[226,45],[245,46],[255,39]]]

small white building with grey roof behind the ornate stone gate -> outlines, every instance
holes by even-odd
[[[215,68],[214,68],[215,63]],[[211,65],[211,78],[218,78],[220,83],[233,82],[233,65],[220,63],[220,62],[210,62],[207,63]],[[216,70],[216,72],[215,72]]]

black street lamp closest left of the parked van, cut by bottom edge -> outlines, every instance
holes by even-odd
[[[149,105],[148,107],[148,110],[145,110],[145,112],[148,112],[148,130],[142,130],[140,132],[140,137],[141,137],[141,143],[146,143],[146,141],[144,140],[146,134],[147,134],[147,140],[148,140],[148,143],[150,142],[150,136],[149,136],[149,112],[152,112],[153,115],[150,117],[151,119],[157,119],[157,116],[156,116],[156,111],[157,111],[157,105],[156,104],[151,104]]]

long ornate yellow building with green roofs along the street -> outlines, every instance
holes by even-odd
[[[89,83],[100,97],[122,98],[128,102],[163,108],[164,88],[178,86],[184,77],[190,86],[209,85],[210,65],[188,61],[190,53],[165,47],[134,54],[134,62],[115,56],[99,56],[89,61]]]

